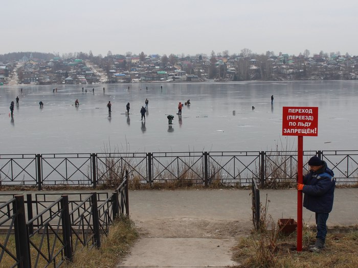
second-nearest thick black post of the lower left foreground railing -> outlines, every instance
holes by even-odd
[[[64,256],[69,261],[73,261],[72,257],[72,235],[71,235],[71,220],[69,210],[69,196],[61,195],[61,208],[62,208],[62,237],[64,244]]]

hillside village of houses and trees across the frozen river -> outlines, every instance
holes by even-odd
[[[245,52],[245,51],[244,51]],[[250,52],[250,51],[249,51]],[[17,53],[18,54],[18,53]],[[37,53],[40,54],[40,53]],[[0,83],[15,79],[16,84],[97,84],[150,83],[155,81],[199,82],[243,80],[350,80],[358,77],[358,56],[334,53],[289,56],[266,53],[257,55],[175,56],[111,55],[35,58],[24,53],[21,58],[0,62]],[[16,74],[16,77],[15,77]],[[0,84],[0,85],[1,85]]]

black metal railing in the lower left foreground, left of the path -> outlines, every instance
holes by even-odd
[[[129,216],[127,177],[126,172],[113,193],[35,194],[34,199],[28,194],[26,201],[23,195],[7,195],[10,200],[0,205],[0,228],[5,230],[0,263],[7,259],[10,267],[58,267],[71,261],[78,247],[99,248],[110,224],[121,214]]]

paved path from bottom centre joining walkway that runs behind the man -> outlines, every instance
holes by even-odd
[[[249,190],[130,191],[130,217],[141,237],[117,267],[228,267],[237,238],[249,235]],[[297,219],[297,191],[261,190],[268,213]],[[336,189],[328,226],[358,224],[358,189]],[[314,214],[303,209],[306,225]]]

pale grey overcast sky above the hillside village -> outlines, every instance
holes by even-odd
[[[2,1],[0,54],[358,55],[356,0]]]

